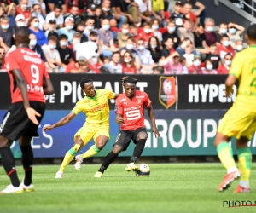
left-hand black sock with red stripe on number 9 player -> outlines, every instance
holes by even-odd
[[[0,154],[2,157],[3,168],[4,168],[7,176],[9,176],[9,178],[12,182],[12,185],[14,187],[19,187],[20,181],[18,179],[17,172],[15,169],[15,158],[14,158],[13,153],[10,150],[10,147],[0,148]]]

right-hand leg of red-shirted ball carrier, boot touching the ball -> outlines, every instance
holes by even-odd
[[[131,156],[130,164],[126,166],[127,171],[138,170],[138,165],[135,164],[143,153],[146,141],[148,138],[147,131],[145,129],[136,130],[133,135],[133,141],[136,146],[134,147],[133,154]]]

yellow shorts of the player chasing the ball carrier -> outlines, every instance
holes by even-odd
[[[73,141],[76,141],[77,137],[80,136],[85,145],[91,138],[96,142],[96,138],[100,135],[105,135],[109,138],[109,126],[84,124],[84,126],[81,127],[73,136]]]

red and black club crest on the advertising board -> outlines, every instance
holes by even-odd
[[[159,78],[159,101],[160,104],[168,109],[177,99],[177,91],[174,77]]]

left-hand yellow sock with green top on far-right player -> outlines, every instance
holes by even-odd
[[[227,142],[221,142],[220,144],[218,144],[217,152],[218,158],[220,159],[226,170],[229,170],[230,168],[236,168],[232,148]]]

